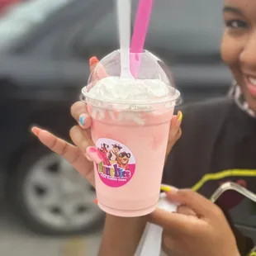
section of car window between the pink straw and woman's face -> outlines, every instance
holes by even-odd
[[[179,55],[218,53],[222,5],[223,0],[155,1],[146,45]]]

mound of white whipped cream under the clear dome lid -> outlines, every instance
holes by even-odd
[[[88,92],[89,97],[111,102],[157,102],[172,96],[170,86],[159,79],[130,80],[102,78]]]

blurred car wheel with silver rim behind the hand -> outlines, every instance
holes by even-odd
[[[17,216],[31,230],[70,235],[102,225],[93,187],[58,154],[42,146],[33,148],[22,154],[11,176]]]

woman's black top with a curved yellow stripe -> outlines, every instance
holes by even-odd
[[[228,181],[256,192],[256,120],[227,97],[181,110],[183,135],[168,156],[163,183],[192,187],[206,197]],[[224,200],[222,205],[228,209],[243,197],[231,193]],[[250,213],[241,212],[241,217],[246,218],[246,214]],[[230,220],[228,212],[225,215]],[[235,236],[241,255],[248,254],[252,240],[243,238],[237,230]]]

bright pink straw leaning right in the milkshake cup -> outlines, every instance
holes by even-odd
[[[130,44],[130,73],[137,78],[154,0],[140,0]],[[135,54],[135,55],[133,55]]]

